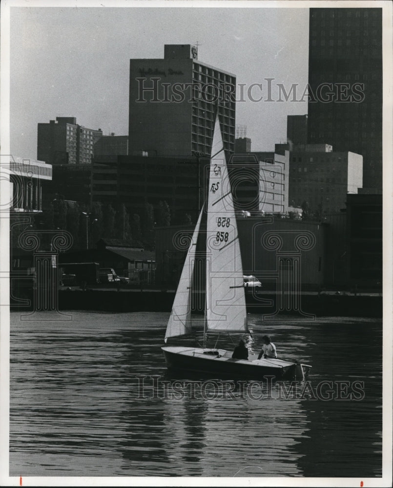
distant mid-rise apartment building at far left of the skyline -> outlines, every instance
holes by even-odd
[[[75,117],[56,117],[38,124],[37,158],[47,164],[91,164],[93,145],[101,129],[88,129]]]

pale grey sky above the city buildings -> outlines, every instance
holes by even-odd
[[[287,115],[307,113],[307,98],[278,102],[277,83],[287,92],[297,83],[298,99],[306,88],[308,8],[11,7],[10,32],[14,156],[37,159],[37,123],[56,117],[127,135],[129,60],[163,58],[164,44],[198,42],[199,61],[245,84],[236,124],[247,126],[253,151],[286,141]],[[255,99],[267,97],[267,78],[274,101],[249,100],[252,83],[262,83]]]

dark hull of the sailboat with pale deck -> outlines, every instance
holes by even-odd
[[[275,379],[299,378],[299,364],[280,359],[232,359],[232,353],[224,349],[215,350],[186,347],[162,347],[168,369],[191,371],[216,375],[217,378],[247,378],[263,380],[266,376]],[[301,366],[301,365],[300,365]]]

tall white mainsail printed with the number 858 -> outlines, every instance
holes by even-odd
[[[207,331],[248,332],[242,259],[218,117],[208,184],[206,281]]]

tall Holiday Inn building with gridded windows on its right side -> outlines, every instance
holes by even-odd
[[[129,154],[210,155],[216,113],[227,158],[235,148],[235,75],[198,61],[197,46],[130,60]]]

